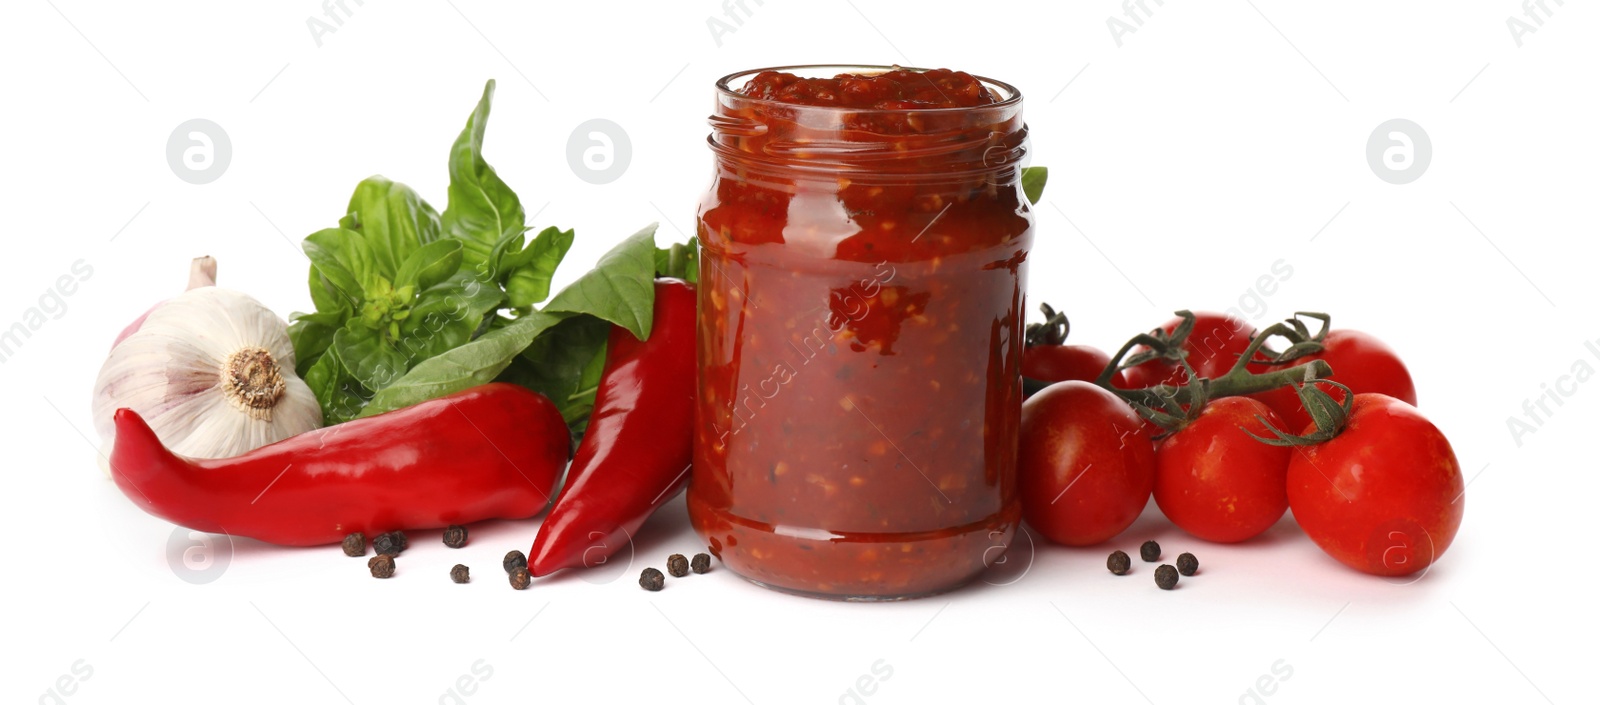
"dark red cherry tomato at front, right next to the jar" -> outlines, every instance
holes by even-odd
[[[1117,395],[1067,380],[1022,403],[1018,494],[1046,539],[1094,545],[1120,534],[1154,484],[1150,432]]]

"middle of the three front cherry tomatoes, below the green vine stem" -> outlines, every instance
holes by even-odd
[[[1256,416],[1282,424],[1246,396],[1213,400],[1155,451],[1155,504],[1179,529],[1234,544],[1267,531],[1290,507],[1283,483],[1290,454],[1245,433],[1272,438]]]

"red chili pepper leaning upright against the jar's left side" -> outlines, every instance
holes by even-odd
[[[539,526],[528,571],[597,566],[688,483],[694,422],[694,288],[656,280],[650,337],[613,328],[595,408]]]

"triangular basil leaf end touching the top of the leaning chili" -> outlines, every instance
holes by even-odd
[[[650,337],[656,305],[656,224],[600,257],[595,269],[550,299],[546,312],[589,313]]]

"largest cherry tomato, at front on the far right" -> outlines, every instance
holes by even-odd
[[[1450,441],[1414,406],[1358,393],[1344,432],[1290,456],[1288,496],[1310,540],[1346,566],[1410,576],[1450,548],[1466,505]]]

